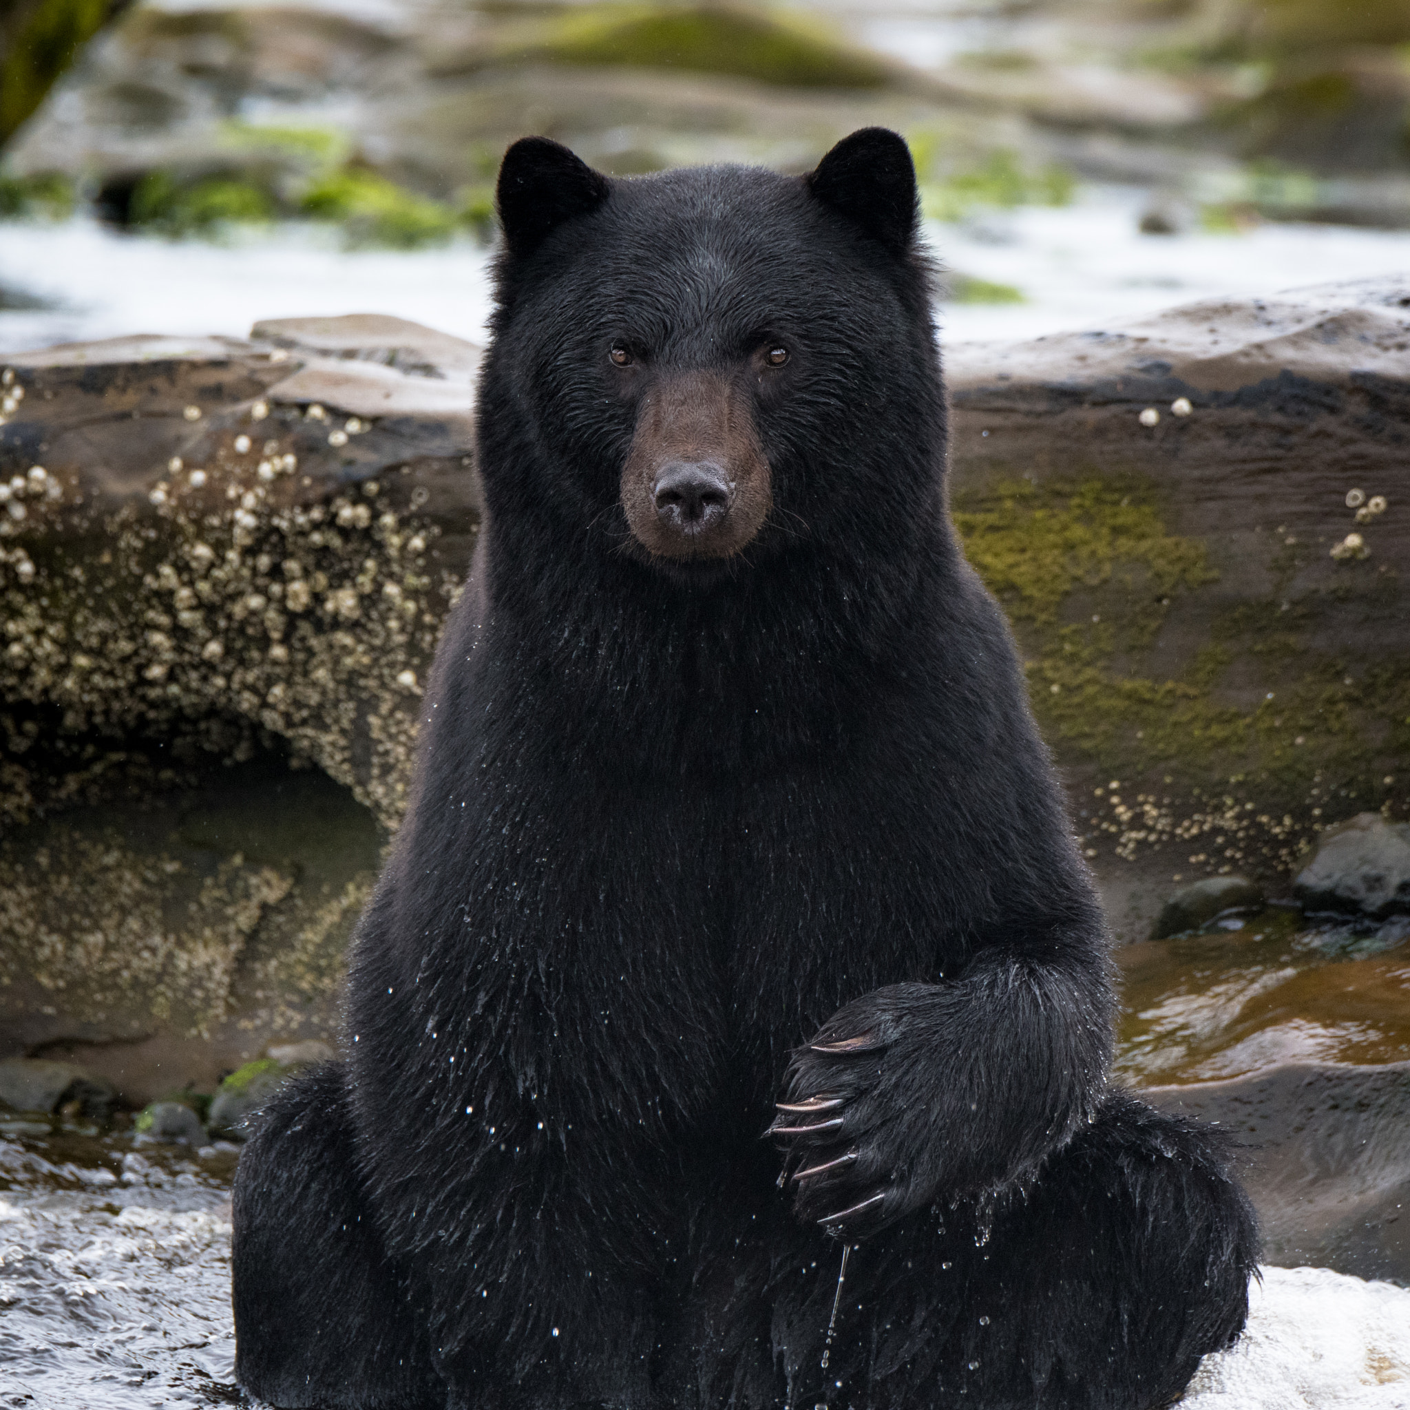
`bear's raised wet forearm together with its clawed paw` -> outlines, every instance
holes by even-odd
[[[955,980],[863,995],[790,1069],[799,1213],[876,1197],[891,1218],[1032,1177],[1096,1111],[1110,1052],[1110,983],[1072,950],[987,949]]]

